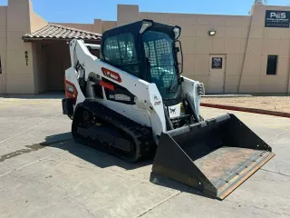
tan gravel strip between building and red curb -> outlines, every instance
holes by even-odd
[[[290,113],[290,96],[203,97],[201,103]]]

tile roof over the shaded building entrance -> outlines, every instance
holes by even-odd
[[[24,35],[22,38],[24,41],[34,41],[40,39],[71,40],[74,38],[84,40],[101,40],[102,35],[63,25],[48,24],[32,34]]]

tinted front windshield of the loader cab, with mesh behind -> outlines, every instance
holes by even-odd
[[[147,31],[143,35],[149,82],[157,85],[163,99],[171,99],[179,93],[179,72],[173,40],[169,35]]]

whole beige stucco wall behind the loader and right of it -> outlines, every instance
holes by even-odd
[[[152,19],[181,26],[184,75],[206,87],[209,55],[227,54],[226,93],[287,93],[290,29],[265,28],[266,10],[290,11],[290,6],[254,5],[251,15],[237,16],[150,13],[140,12],[138,5],[118,5],[118,25]],[[217,35],[208,36],[209,30]],[[278,55],[276,75],[266,75],[268,54]]]

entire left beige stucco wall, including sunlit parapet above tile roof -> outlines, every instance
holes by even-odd
[[[36,54],[33,45],[24,43],[22,36],[47,25],[33,11],[30,0],[8,0],[0,7],[0,94],[35,94]],[[26,65],[25,51],[28,52]]]

